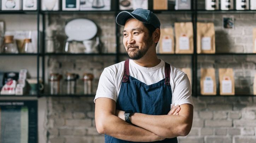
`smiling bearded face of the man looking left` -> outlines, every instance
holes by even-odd
[[[123,30],[123,45],[130,59],[138,60],[153,45],[152,35],[149,35],[149,31],[141,21],[128,19]]]

